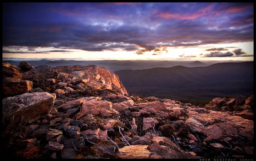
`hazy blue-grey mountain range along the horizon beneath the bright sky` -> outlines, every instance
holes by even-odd
[[[18,65],[21,61],[4,60],[8,63]],[[88,65],[95,64],[100,67],[106,67],[111,71],[125,70],[125,69],[151,69],[151,68],[169,68],[177,65],[185,67],[200,67],[207,66],[213,63],[219,62],[200,62],[200,61],[169,61],[169,60],[91,60],[91,61],[77,61],[77,60],[26,60],[26,62],[32,64],[34,67],[39,65],[49,65],[51,67],[63,66],[63,65]]]

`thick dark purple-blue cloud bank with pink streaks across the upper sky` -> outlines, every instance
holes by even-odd
[[[253,3],[3,3],[2,22],[3,46],[56,51],[158,55],[168,46],[253,41]]]

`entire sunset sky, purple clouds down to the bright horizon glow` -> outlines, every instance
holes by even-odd
[[[3,3],[2,57],[253,61],[253,3]]]

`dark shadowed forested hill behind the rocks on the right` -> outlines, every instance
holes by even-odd
[[[192,62],[200,63],[200,62]],[[253,94],[253,62],[216,63],[206,67],[173,66],[115,71],[129,94],[159,98],[211,100]]]

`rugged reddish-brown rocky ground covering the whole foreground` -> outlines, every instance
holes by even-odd
[[[254,154],[253,96],[213,98],[200,108],[129,97],[117,75],[96,65],[27,65],[11,68],[33,82],[31,89],[2,100],[5,158],[231,159]]]

